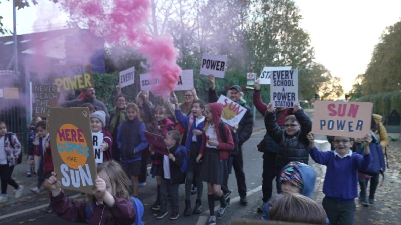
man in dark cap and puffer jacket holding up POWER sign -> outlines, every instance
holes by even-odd
[[[213,75],[209,75],[209,82],[211,87],[209,88],[209,102],[217,102],[219,97],[216,92],[215,85],[215,77]],[[248,204],[247,200],[247,185],[245,183],[245,173],[243,169],[243,157],[242,157],[242,145],[251,137],[252,129],[253,129],[253,115],[251,112],[251,108],[246,105],[245,100],[243,100],[242,96],[242,88],[238,85],[231,86],[229,89],[229,98],[243,106],[247,109],[245,115],[242,117],[241,121],[238,124],[238,153],[233,156],[233,167],[235,171],[235,177],[237,178],[237,187],[238,193],[240,197],[240,203],[243,205]]]

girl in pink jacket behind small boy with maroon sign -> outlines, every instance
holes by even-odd
[[[150,132],[166,137],[168,131],[174,131],[174,122],[167,118],[166,108],[164,108],[163,106],[158,106],[155,108],[154,119],[155,123],[150,125]],[[150,151],[153,151],[152,147],[150,147]],[[150,170],[150,173],[152,174],[152,177],[156,176],[157,198],[156,202],[150,207],[150,209],[158,211],[160,210],[160,184],[162,182],[163,176],[163,162],[161,159],[162,155],[160,155],[159,153],[154,153],[154,155],[151,155],[151,158],[152,169]]]

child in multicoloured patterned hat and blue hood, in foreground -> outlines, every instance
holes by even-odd
[[[284,194],[287,193],[300,193],[308,198],[312,198],[312,194],[316,183],[315,170],[300,162],[290,162],[283,167],[279,175],[279,185]],[[280,197],[282,195],[279,195]],[[275,204],[277,197],[273,197],[263,205],[262,220],[269,220],[269,211]],[[274,204],[273,204],[274,203]]]

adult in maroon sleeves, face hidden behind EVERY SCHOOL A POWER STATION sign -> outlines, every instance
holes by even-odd
[[[267,104],[262,101],[261,90],[259,79],[255,82],[255,90],[253,92],[253,104],[257,110],[265,117]],[[277,125],[284,129],[284,125],[286,123],[285,119],[287,116],[293,114],[293,108],[277,108],[275,111],[275,115],[277,118]],[[260,152],[263,153],[263,173],[262,173],[262,193],[263,193],[263,204],[257,208],[259,212],[263,212],[263,205],[269,201],[271,198],[271,193],[273,191],[273,179],[275,177],[274,167],[275,167],[275,159],[277,156],[278,146],[271,139],[270,135],[265,134],[263,140],[257,145],[257,148]],[[279,177],[276,177],[276,187],[277,193],[280,192],[281,188],[278,181]]]

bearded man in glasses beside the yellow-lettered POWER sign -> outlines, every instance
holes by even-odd
[[[61,107],[81,107],[85,103],[91,103],[93,106],[97,107],[97,110],[102,110],[106,113],[106,124],[109,122],[110,115],[106,106],[103,102],[96,99],[96,91],[93,87],[84,88],[82,91],[83,99],[74,99],[71,101],[66,101],[61,104]]]

